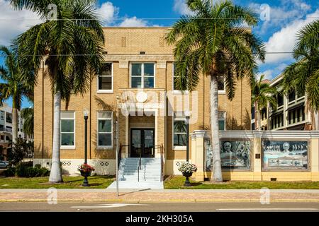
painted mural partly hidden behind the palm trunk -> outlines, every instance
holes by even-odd
[[[210,140],[205,139],[205,169],[211,171],[213,149]],[[222,169],[250,169],[250,141],[220,141]]]

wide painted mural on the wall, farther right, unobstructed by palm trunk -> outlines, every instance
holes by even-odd
[[[262,141],[264,169],[308,169],[307,141]]]

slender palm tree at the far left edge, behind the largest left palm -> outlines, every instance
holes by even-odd
[[[23,96],[32,98],[33,86],[26,85],[28,81],[23,80],[18,61],[11,49],[0,46],[0,54],[6,57],[5,67],[0,66],[0,78],[5,81],[5,83],[0,83],[0,106],[4,100],[12,97],[12,141],[15,143],[18,137],[18,110],[21,109]]]

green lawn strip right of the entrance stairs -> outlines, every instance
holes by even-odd
[[[319,182],[194,182],[190,187],[184,187],[185,177],[168,177],[164,182],[165,189],[319,189]]]

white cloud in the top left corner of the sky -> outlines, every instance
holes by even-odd
[[[9,1],[0,0],[0,44],[9,45],[11,40],[40,22],[35,13],[15,11]]]

